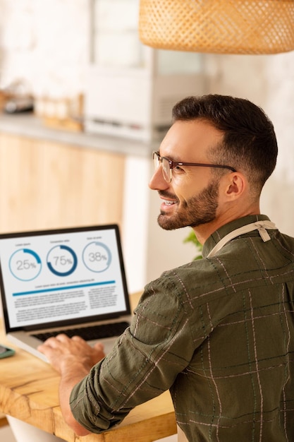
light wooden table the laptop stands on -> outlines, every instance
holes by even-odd
[[[137,295],[131,296],[131,301],[135,305]],[[0,412],[68,442],[152,442],[176,433],[173,404],[167,391],[135,407],[116,429],[76,436],[61,415],[59,374],[46,362],[11,345],[4,337],[2,323],[0,327],[0,342],[16,349],[13,357],[0,359]]]

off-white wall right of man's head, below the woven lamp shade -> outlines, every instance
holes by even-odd
[[[294,52],[274,55],[207,55],[209,91],[261,106],[274,123],[278,161],[264,187],[261,210],[294,236]]]

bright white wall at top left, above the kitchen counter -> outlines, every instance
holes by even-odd
[[[0,0],[0,86],[26,80],[35,95],[83,90],[89,0]]]

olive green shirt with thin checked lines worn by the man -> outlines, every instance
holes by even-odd
[[[294,441],[294,239],[257,230],[150,282],[114,350],[71,393],[94,433],[169,389],[188,441]]]

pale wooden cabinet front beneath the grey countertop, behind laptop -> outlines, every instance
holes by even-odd
[[[116,222],[123,155],[0,133],[0,232]]]

